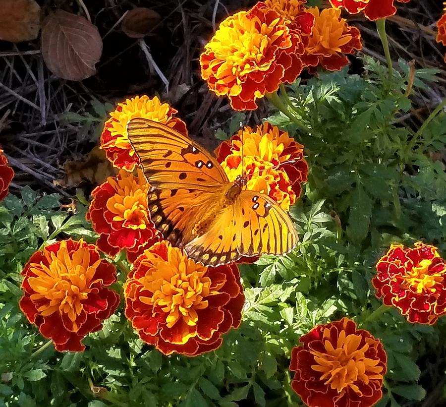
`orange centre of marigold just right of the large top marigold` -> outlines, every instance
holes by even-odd
[[[341,52],[341,47],[352,39],[350,34],[344,34],[345,19],[340,18],[341,10],[318,7],[308,9],[315,17],[313,35],[309,38],[307,52],[330,56]]]

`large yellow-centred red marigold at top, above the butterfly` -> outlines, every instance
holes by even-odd
[[[302,71],[300,34],[258,2],[227,17],[200,56],[201,75],[235,110],[257,109],[257,99],[292,83]]]

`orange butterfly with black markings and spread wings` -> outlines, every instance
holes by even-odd
[[[244,189],[246,176],[230,182],[198,143],[144,118],[129,120],[127,133],[150,184],[152,222],[189,258],[218,266],[295,247],[296,230],[280,206],[263,193]]]

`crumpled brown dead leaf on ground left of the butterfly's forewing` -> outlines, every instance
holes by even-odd
[[[116,170],[107,161],[106,155],[99,147],[91,150],[85,161],[66,161],[63,164],[65,177],[55,179],[53,183],[63,188],[74,188],[84,181],[101,184],[107,177],[115,175]]]

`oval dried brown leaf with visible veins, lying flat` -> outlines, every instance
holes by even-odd
[[[102,39],[86,18],[56,10],[44,21],[42,56],[54,74],[63,79],[82,80],[96,73],[102,54]]]

